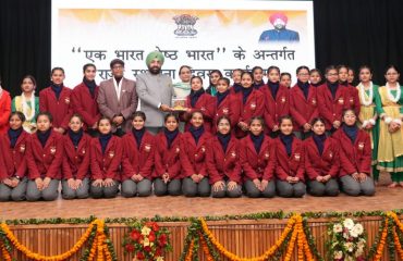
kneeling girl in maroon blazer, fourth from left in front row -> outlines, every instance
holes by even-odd
[[[114,198],[121,181],[122,140],[112,135],[112,122],[102,116],[98,123],[99,137],[90,141],[91,181],[89,194],[93,198]]]

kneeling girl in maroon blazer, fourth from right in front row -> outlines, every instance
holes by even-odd
[[[272,198],[276,195],[276,152],[272,140],[265,135],[262,117],[251,120],[249,135],[241,140],[240,160],[246,195],[251,198]]]

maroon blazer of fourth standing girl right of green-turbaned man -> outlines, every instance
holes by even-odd
[[[279,119],[290,114],[290,92],[285,86],[280,85],[276,99],[267,85],[260,88],[265,96],[265,122],[268,126],[268,133],[279,125]]]

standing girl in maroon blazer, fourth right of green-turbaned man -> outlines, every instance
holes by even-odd
[[[265,122],[268,126],[267,133],[274,138],[279,135],[279,119],[290,113],[289,89],[281,85],[280,69],[270,66],[267,70],[267,87],[261,88],[265,96]]]

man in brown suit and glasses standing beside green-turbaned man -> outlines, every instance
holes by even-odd
[[[123,77],[122,60],[112,60],[110,69],[113,77],[100,83],[97,102],[100,113],[112,121],[113,133],[123,136],[132,129],[132,115],[137,109],[136,83]]]

